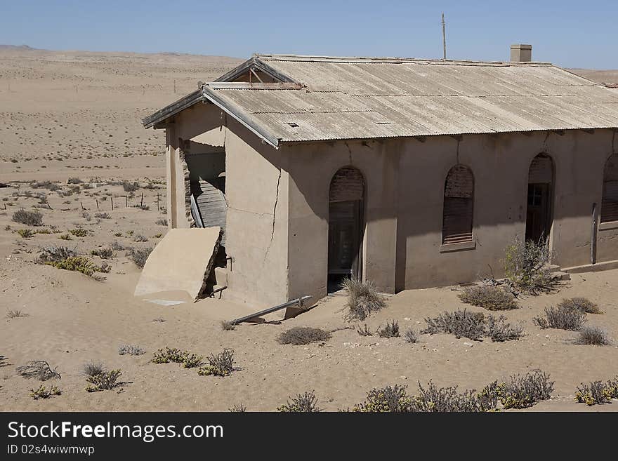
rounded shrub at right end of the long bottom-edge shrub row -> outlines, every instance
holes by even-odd
[[[504,408],[527,408],[537,401],[549,399],[553,383],[541,370],[512,375],[510,381],[498,385],[498,396]]]

